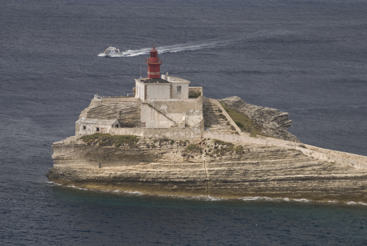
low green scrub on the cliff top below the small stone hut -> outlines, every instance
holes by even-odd
[[[121,144],[128,144],[131,147],[136,147],[139,141],[134,135],[111,135],[109,133],[94,133],[91,135],[82,136],[84,142],[88,145],[97,144],[99,146],[115,146],[119,147]]]

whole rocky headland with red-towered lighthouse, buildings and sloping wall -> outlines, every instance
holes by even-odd
[[[301,143],[289,115],[162,75],[153,47],[133,96],[94,96],[76,134],[53,143],[63,185],[219,198],[367,203],[367,157]]]

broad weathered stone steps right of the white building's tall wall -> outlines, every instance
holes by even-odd
[[[218,106],[212,104],[208,99],[203,99],[204,128],[213,132],[235,134],[229,121],[221,114]]]

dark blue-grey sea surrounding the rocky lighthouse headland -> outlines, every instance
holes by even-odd
[[[303,143],[367,155],[365,0],[0,0],[0,245],[367,245],[367,205],[60,186],[53,142],[94,94],[161,73],[288,112]],[[108,46],[124,56],[101,55]]]

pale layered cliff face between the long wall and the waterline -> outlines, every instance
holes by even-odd
[[[78,187],[367,202],[367,170],[322,162],[282,147],[144,138],[134,146],[114,147],[87,145],[70,137],[52,149],[55,164],[47,174],[49,180]]]

